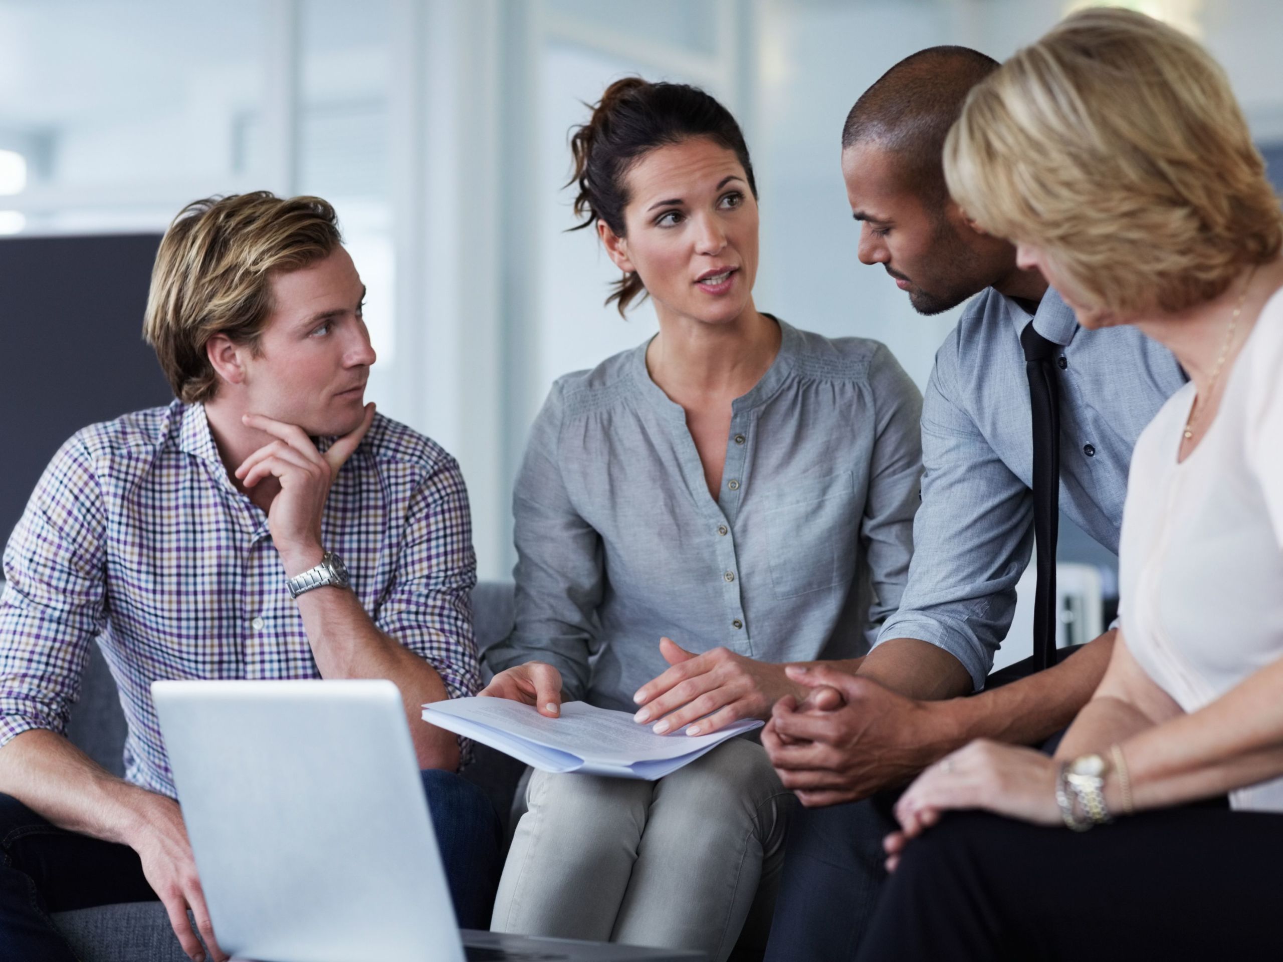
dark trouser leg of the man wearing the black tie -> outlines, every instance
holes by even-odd
[[[767,962],[851,962],[887,885],[899,791],[793,812]]]

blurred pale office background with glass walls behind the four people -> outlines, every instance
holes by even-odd
[[[656,330],[649,305],[629,319],[603,307],[612,266],[590,232],[565,232],[567,136],[584,101],[630,73],[720,97],[744,127],[761,191],[758,307],[826,335],[879,339],[924,385],[957,310],[919,317],[881,271],[857,262],[842,122],[913,50],[964,44],[1002,59],[1076,5],[0,0],[0,235],[155,235],[189,200],[262,187],[331,200],[370,289],[380,355],[370,395],[458,457],[481,576],[507,577],[512,478],[553,378]],[[1124,5],[1207,44],[1283,171],[1283,4]],[[31,298],[28,274],[24,298],[0,298],[6,366],[26,366],[21,390],[10,380],[0,403],[27,426],[18,457],[38,463],[69,434],[41,421],[62,394],[87,391],[100,418],[136,403],[104,386],[110,369],[100,382],[69,377],[56,351],[12,332],[30,328],[31,344],[44,336],[45,348],[91,359],[106,357],[99,345],[128,345],[122,371],[141,357],[141,310],[94,309],[110,272],[81,274],[71,248],[46,250],[63,253],[41,277],[60,269],[74,307]],[[0,285],[23,257],[0,259],[10,272]],[[1092,555],[1074,532],[1065,540],[1067,553]]]

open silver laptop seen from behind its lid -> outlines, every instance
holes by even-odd
[[[461,932],[390,681],[157,681],[151,695],[214,932],[236,957],[703,958]]]

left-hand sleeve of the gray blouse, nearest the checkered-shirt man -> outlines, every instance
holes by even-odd
[[[598,531],[575,509],[558,458],[565,414],[554,385],[531,427],[512,498],[517,548],[516,627],[485,654],[495,672],[529,661],[548,662],[562,676],[562,698],[588,693],[589,650],[602,602],[603,562]]]

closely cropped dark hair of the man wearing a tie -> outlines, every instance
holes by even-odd
[[[842,128],[842,149],[878,144],[903,159],[906,180],[921,196],[947,199],[944,139],[967,94],[996,69],[997,60],[965,46],[933,46],[910,54],[851,108]]]

